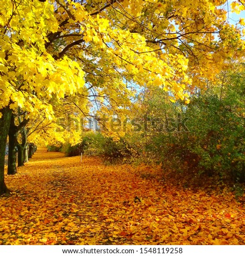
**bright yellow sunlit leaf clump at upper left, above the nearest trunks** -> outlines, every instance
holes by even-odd
[[[51,118],[48,100],[74,94],[85,83],[80,65],[68,57],[56,60],[45,50],[47,33],[58,29],[53,5],[5,1],[1,13],[0,108],[10,104],[23,111],[45,110]]]

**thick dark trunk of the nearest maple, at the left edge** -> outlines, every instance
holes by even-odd
[[[2,118],[0,118],[0,194],[4,194],[9,192],[4,182],[4,160],[12,110],[9,107],[4,107],[0,113],[2,114]]]

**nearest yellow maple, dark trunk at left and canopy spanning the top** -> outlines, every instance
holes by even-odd
[[[135,84],[160,86],[173,101],[188,101],[185,90],[215,80],[226,58],[242,55],[243,32],[225,22],[224,2],[4,1],[0,193],[7,190],[4,146],[18,107],[27,119],[40,111],[52,119],[53,105],[77,93],[123,112]],[[231,7],[239,12],[244,4]]]

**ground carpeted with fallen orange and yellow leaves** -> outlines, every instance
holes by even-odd
[[[161,168],[105,166],[39,150],[6,176],[2,245],[243,245],[244,206],[227,188],[193,191]]]

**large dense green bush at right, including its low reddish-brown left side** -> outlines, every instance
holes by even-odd
[[[245,182],[241,92],[242,83],[228,87],[222,99],[212,92],[193,98],[183,113],[189,131],[158,134],[146,150],[161,159],[164,168]]]

